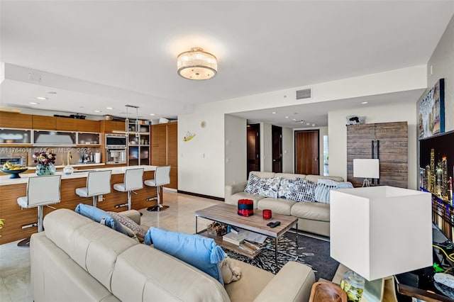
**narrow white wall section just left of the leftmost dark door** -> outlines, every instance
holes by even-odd
[[[226,184],[236,184],[247,179],[247,149],[246,133],[247,121],[226,114],[224,139],[224,154],[226,157],[225,181]]]

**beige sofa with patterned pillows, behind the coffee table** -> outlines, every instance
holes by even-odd
[[[273,173],[252,171],[249,174],[255,174],[260,178],[281,177],[282,179],[307,179],[317,182],[319,179],[332,179],[334,181],[343,181],[343,177],[321,176],[321,175],[304,175],[289,173]],[[329,236],[329,203],[318,202],[297,202],[283,198],[269,198],[255,194],[245,193],[244,189],[248,181],[238,184],[226,185],[225,202],[238,205],[240,199],[251,199],[254,201],[254,208],[263,210],[271,209],[272,213],[291,215],[298,218],[298,229],[305,232]]]

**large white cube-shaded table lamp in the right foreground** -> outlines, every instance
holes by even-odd
[[[331,190],[330,207],[331,257],[367,280],[362,300],[396,301],[388,277],[432,265],[431,194],[393,186],[338,189]]]

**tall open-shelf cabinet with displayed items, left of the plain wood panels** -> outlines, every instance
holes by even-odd
[[[128,125],[128,166],[150,164],[150,125],[145,123]]]

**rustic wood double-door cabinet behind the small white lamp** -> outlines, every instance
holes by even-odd
[[[353,177],[353,159],[378,158],[380,179],[372,184],[408,187],[408,125],[406,122],[347,126],[347,180],[362,186]]]

